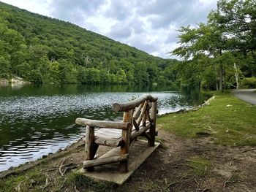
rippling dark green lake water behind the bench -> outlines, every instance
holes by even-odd
[[[75,118],[119,120],[111,104],[157,96],[159,114],[201,104],[195,88],[129,85],[1,85],[0,171],[54,153],[85,135]]]

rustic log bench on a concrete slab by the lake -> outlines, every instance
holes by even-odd
[[[83,169],[91,172],[94,166],[119,164],[120,172],[128,172],[129,152],[137,137],[148,139],[148,146],[153,147],[156,133],[157,98],[146,95],[124,104],[112,105],[115,112],[124,112],[121,122],[89,120],[77,118],[75,123],[86,126],[85,161]],[[95,131],[94,128],[99,128]],[[120,147],[119,155],[94,158],[99,145]]]

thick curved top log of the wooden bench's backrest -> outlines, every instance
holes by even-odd
[[[154,98],[151,95],[140,96],[138,99],[129,101],[128,103],[124,103],[124,104],[114,103],[112,104],[112,108],[115,112],[127,112],[129,110],[135,109],[135,107],[138,107],[143,101],[153,102],[153,101],[157,101],[157,98]]]

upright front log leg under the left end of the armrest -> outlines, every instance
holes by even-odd
[[[85,139],[85,155],[86,160],[91,160],[94,158],[94,127],[86,126],[86,139]],[[89,168],[87,171],[92,172],[94,168]]]

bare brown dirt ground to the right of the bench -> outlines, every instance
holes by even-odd
[[[159,138],[163,147],[138,169],[162,183],[159,191],[256,191],[256,148],[213,145],[208,138],[185,139],[162,129]],[[193,159],[206,161],[195,160],[189,166]],[[203,172],[196,170],[200,164],[205,166]],[[140,178],[132,177],[128,183]]]

